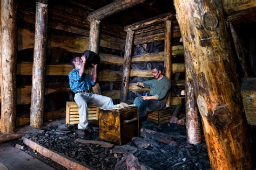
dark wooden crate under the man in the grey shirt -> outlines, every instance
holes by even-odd
[[[163,124],[165,122],[169,122],[172,115],[171,108],[164,108],[162,110],[149,112],[147,114],[147,118],[157,124]]]

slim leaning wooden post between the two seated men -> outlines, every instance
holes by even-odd
[[[133,45],[134,31],[127,29],[126,41],[125,41],[125,54],[124,54],[124,68],[123,68],[123,80],[120,95],[120,102],[126,102],[127,93],[129,88],[130,67],[132,60],[132,45]]]

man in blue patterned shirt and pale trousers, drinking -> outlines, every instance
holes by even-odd
[[[92,76],[85,74],[86,57],[83,55],[75,55],[72,59],[73,70],[69,73],[69,84],[71,90],[75,93],[75,102],[78,105],[79,123],[78,136],[84,138],[88,132],[87,121],[87,105],[96,105],[104,107],[113,105],[110,97],[93,94],[92,86],[95,85],[97,79],[97,64],[92,64]]]

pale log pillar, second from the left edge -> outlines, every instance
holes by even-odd
[[[44,118],[44,82],[47,47],[48,1],[37,0],[35,47],[33,53],[30,126],[41,128]]]

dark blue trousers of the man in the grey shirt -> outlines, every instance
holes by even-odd
[[[165,107],[165,100],[143,100],[142,97],[136,97],[133,104],[139,109],[139,118],[142,119],[147,115],[148,111],[156,111]]]

